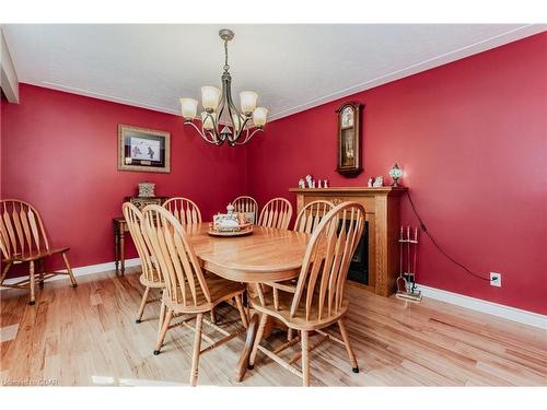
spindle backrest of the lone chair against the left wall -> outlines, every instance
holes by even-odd
[[[0,249],[4,259],[14,254],[49,250],[38,211],[19,199],[0,200]]]

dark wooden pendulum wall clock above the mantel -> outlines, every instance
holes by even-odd
[[[356,176],[363,171],[361,163],[361,109],[359,103],[344,103],[338,115],[338,166],[336,171],[346,176]]]

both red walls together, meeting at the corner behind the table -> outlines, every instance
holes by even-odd
[[[69,244],[72,265],[85,266],[114,259],[112,218],[139,181],[194,199],[209,219],[241,192],[294,201],[288,188],[309,173],[365,186],[398,162],[446,251],[502,273],[502,288],[490,286],[421,237],[418,281],[547,314],[546,42],[539,34],[344,98],[365,105],[364,173],[353,179],[334,172],[341,101],[272,121],[245,148],[217,149],[176,116],[22,85],[20,105],[1,104],[2,196],[36,204],[54,245]],[[119,122],[170,131],[172,173],[118,172]],[[406,200],[401,219],[417,225]]]

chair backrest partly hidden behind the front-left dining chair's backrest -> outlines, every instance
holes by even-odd
[[[162,282],[159,269],[155,269],[153,263],[150,245],[147,243],[147,237],[142,234],[142,213],[131,202],[125,202],[121,209],[135,247],[139,254],[142,274],[144,274],[144,278],[150,282]]]

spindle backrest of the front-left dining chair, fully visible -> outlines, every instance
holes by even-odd
[[[150,204],[142,211],[142,232],[151,245],[168,300],[188,308],[211,303],[199,260],[178,220],[165,208]]]

